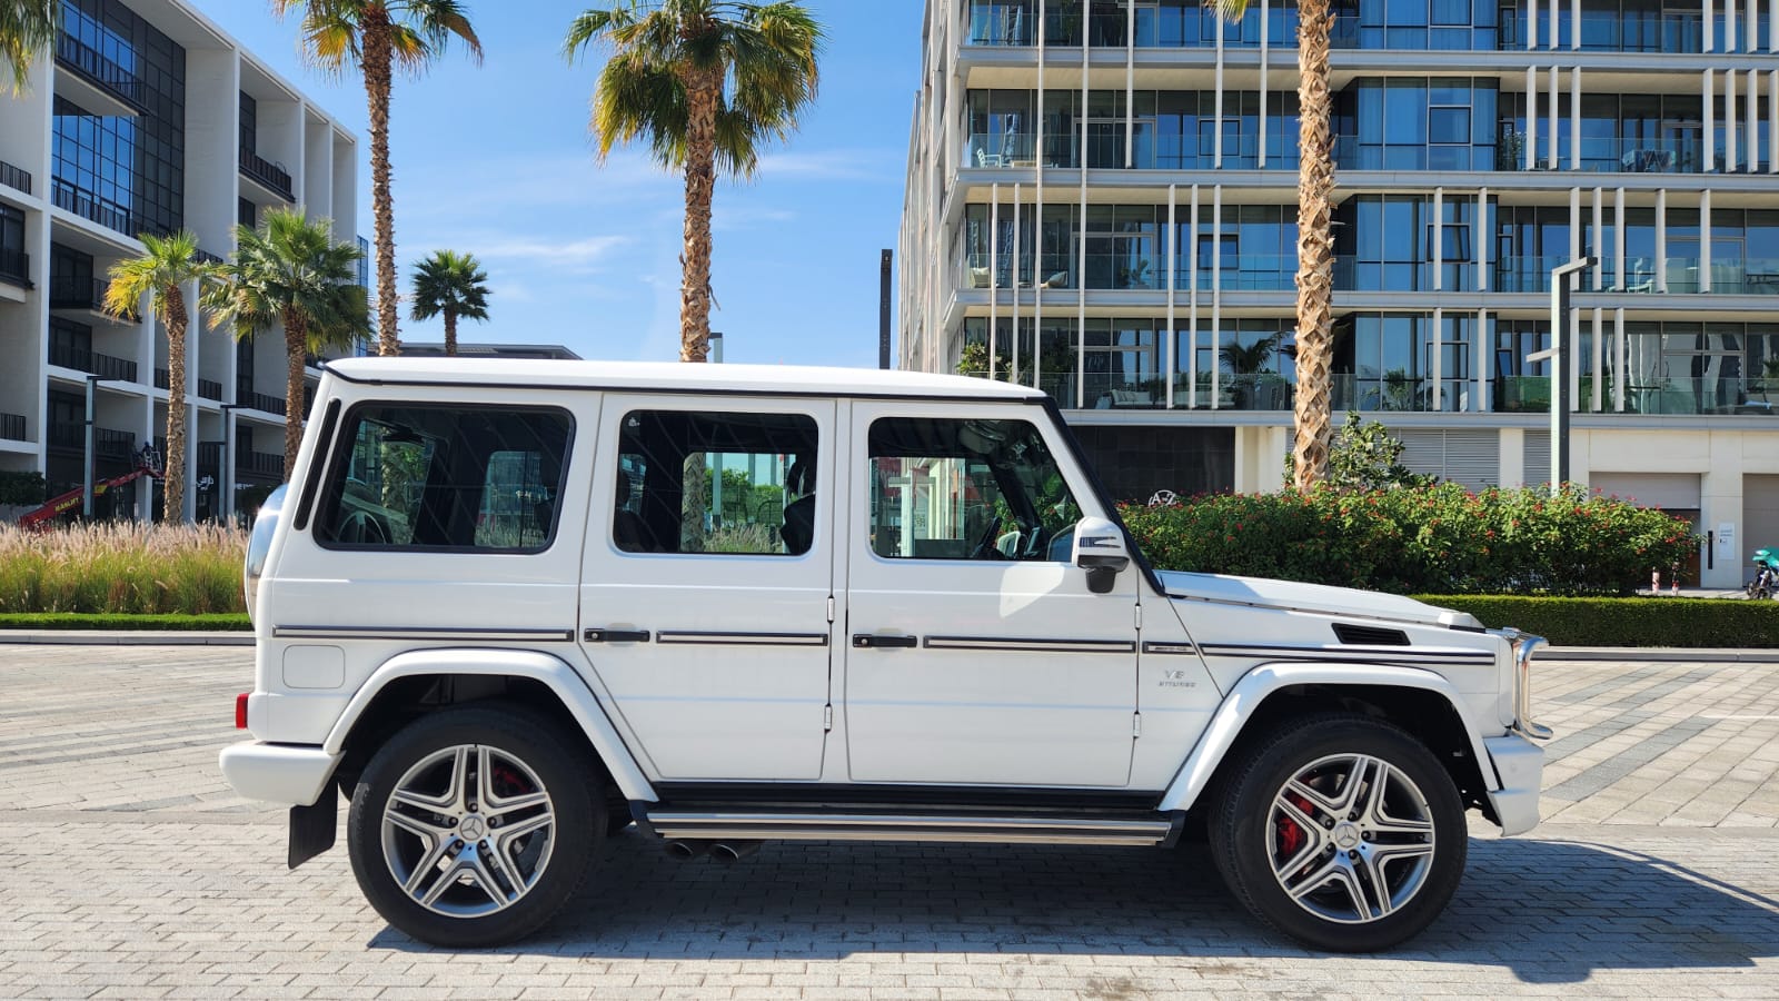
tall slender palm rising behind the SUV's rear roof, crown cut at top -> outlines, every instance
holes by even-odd
[[[395,69],[420,73],[452,36],[482,61],[464,5],[457,0],[272,0],[285,16],[302,9],[304,53],[329,73],[358,68],[370,102],[370,210],[377,246],[377,354],[400,351],[395,331],[395,201],[390,196],[390,85]]]

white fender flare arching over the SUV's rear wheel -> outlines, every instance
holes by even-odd
[[[342,753],[347,736],[358,725],[372,700],[391,682],[418,675],[519,677],[543,684],[580,725],[587,741],[592,743],[594,753],[605,762],[607,771],[612,773],[612,780],[623,791],[624,798],[632,802],[656,800],[648,777],[642,775],[642,768],[630,755],[610,716],[605,714],[605,707],[600,705],[598,696],[587,688],[587,682],[560,657],[535,650],[461,648],[397,654],[372,671],[370,679],[352,695],[345,712],[340,714],[333,730],[327,732],[322,750],[333,755]]]

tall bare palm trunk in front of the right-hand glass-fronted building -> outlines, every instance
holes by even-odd
[[[1238,21],[1249,0],[1213,0]],[[1327,476],[1334,424],[1329,363],[1334,342],[1334,151],[1329,142],[1329,0],[1297,0],[1297,486]]]

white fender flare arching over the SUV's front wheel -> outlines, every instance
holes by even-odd
[[[1158,809],[1185,810],[1195,803],[1210,785],[1217,766],[1222,764],[1229,748],[1235,746],[1236,737],[1242,734],[1242,727],[1245,727],[1249,718],[1254,716],[1254,711],[1260,709],[1261,702],[1283,688],[1299,684],[1322,684],[1331,688],[1414,688],[1432,691],[1434,695],[1445,698],[1452,711],[1457,712],[1457,718],[1464,723],[1464,736],[1469,739],[1469,752],[1477,759],[1477,769],[1482,773],[1484,784],[1489,785],[1489,791],[1501,787],[1500,778],[1494,775],[1494,762],[1489,757],[1489,750],[1482,743],[1482,734],[1477,732],[1469,716],[1464,714],[1457,688],[1453,688],[1445,677],[1423,668],[1293,661],[1261,664],[1242,675],[1242,680],[1229,689],[1229,695],[1224,696],[1217,712],[1211,714],[1210,725],[1204,727],[1204,734],[1199,737],[1199,743],[1194,745],[1192,753],[1187,755],[1187,762],[1179,766],[1174,780],[1167,784],[1167,791],[1162,793],[1162,805]]]

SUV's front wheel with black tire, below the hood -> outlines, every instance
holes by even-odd
[[[1211,798],[1211,859],[1279,932],[1334,953],[1388,949],[1432,924],[1457,891],[1464,803],[1432,752],[1397,727],[1295,720],[1229,764]]]

